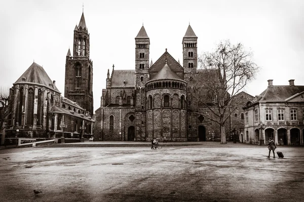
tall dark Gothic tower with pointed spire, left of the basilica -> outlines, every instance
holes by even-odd
[[[65,63],[64,96],[93,115],[93,62],[90,59],[90,34],[84,13],[74,29],[73,56],[68,49]]]

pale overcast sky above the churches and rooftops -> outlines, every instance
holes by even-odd
[[[188,2],[189,4],[186,4]],[[3,1],[0,86],[13,83],[33,63],[42,65],[64,96],[65,56],[84,15],[93,61],[94,111],[100,107],[107,69],[135,69],[135,37],[142,23],[150,38],[150,60],[168,48],[182,63],[182,37],[190,22],[198,53],[220,40],[241,42],[261,67],[245,91],[253,96],[274,85],[304,85],[304,1]],[[71,51],[72,53],[72,51]],[[302,70],[302,71],[301,71]]]

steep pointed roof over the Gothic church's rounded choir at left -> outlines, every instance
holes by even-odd
[[[35,83],[59,92],[42,66],[33,62],[14,84]],[[60,92],[59,92],[60,93]]]

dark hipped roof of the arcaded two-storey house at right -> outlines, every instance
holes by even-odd
[[[274,85],[269,86],[261,94],[259,94],[259,101],[276,101],[284,102],[285,99],[304,91],[303,85]],[[257,99],[253,101],[258,101]]]

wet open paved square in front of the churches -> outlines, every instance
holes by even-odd
[[[279,149],[283,159],[218,142],[0,149],[0,201],[304,201],[304,147]]]

